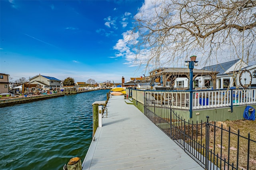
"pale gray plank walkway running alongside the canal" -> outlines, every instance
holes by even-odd
[[[108,100],[82,170],[202,170],[195,160],[154,125],[124,96]]]

